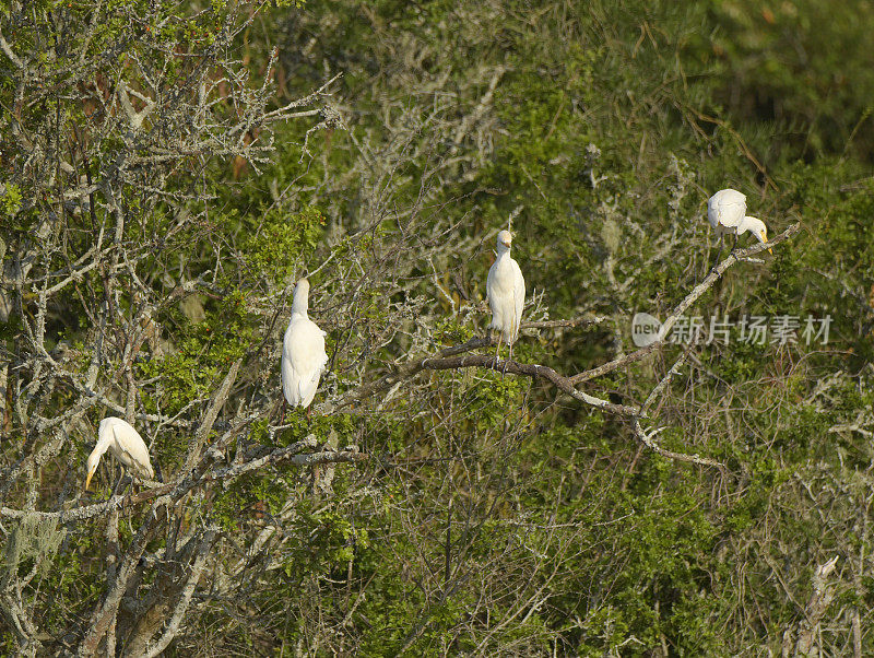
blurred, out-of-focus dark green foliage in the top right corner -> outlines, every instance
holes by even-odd
[[[852,151],[871,158],[869,140],[859,139],[874,92],[874,75],[861,56],[874,46],[870,3],[708,4],[718,30],[710,42],[692,42],[689,55],[709,64],[720,105],[735,122],[787,126],[787,139],[770,146],[776,155],[811,158]]]

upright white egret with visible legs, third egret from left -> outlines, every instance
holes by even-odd
[[[525,303],[525,280],[519,263],[510,258],[512,234],[509,231],[498,233],[497,260],[488,270],[485,290],[488,296],[488,306],[492,308],[491,329],[500,331],[498,348],[495,359],[500,354],[500,343],[510,346],[512,361],[512,344],[519,336],[519,322],[522,321],[522,307]]]

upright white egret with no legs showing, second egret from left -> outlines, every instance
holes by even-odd
[[[292,407],[309,407],[328,365],[324,331],[307,317],[309,281],[294,287],[292,319],[282,340],[282,392]]]

